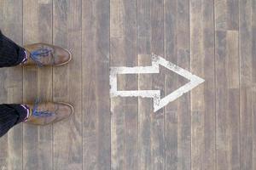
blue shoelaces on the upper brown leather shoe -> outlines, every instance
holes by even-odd
[[[52,48],[39,48],[37,50],[34,50],[31,52],[30,56],[31,59],[38,65],[38,66],[44,66],[44,64],[41,62],[40,59],[44,57],[48,57],[49,54],[53,52]],[[53,57],[51,58],[51,62],[53,60]]]

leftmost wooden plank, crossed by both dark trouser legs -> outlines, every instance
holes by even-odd
[[[4,35],[22,45],[22,2],[20,0],[1,1],[0,23]],[[22,103],[22,67],[2,68],[0,79],[0,103]],[[9,133],[0,139],[0,150],[0,169],[22,169],[21,123],[10,129]]]

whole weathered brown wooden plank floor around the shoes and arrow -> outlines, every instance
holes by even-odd
[[[0,170],[256,169],[256,0],[0,0],[0,29],[73,54],[58,68],[1,69],[0,103],[75,107],[10,130]],[[110,99],[110,66],[150,65],[151,53],[206,82],[156,113],[152,99]],[[118,82],[163,97],[186,83],[164,68]]]

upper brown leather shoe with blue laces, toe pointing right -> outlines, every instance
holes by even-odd
[[[67,49],[47,43],[34,43],[26,45],[24,48],[28,59],[23,65],[60,66],[66,65],[72,59],[72,55]]]

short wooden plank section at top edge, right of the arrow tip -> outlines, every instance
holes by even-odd
[[[218,31],[238,31],[238,0],[216,0],[215,24]]]

